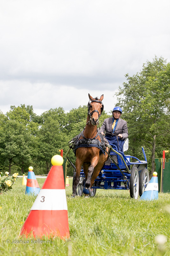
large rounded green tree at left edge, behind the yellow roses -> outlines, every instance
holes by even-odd
[[[35,135],[39,128],[39,124],[35,121],[39,120],[32,106],[25,107],[25,104],[18,107],[11,106],[3,119],[4,122],[0,129],[1,163],[4,166],[8,165],[9,172],[13,165],[18,166],[24,172],[33,159]]]

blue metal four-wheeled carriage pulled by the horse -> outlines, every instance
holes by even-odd
[[[69,144],[72,147],[73,142]],[[108,160],[103,165],[102,170],[95,179],[90,196],[96,195],[97,189],[126,189],[130,190],[131,198],[137,199],[138,195],[142,196],[146,186],[149,183],[149,172],[147,170],[147,160],[144,148],[142,152],[144,160],[130,155],[124,155],[123,152],[118,151],[117,147],[112,144],[107,145],[110,148]],[[128,139],[124,144],[124,151],[128,149]],[[69,151],[68,151],[69,152]],[[67,152],[67,160],[69,162]],[[72,164],[72,163],[71,163]],[[74,170],[75,166],[72,164]],[[75,171],[73,174],[73,187],[75,180]],[[82,196],[85,191],[85,174],[83,169],[80,172],[80,179],[76,189],[76,195]],[[87,192],[86,192],[87,193]]]

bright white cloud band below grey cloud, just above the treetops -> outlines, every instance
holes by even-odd
[[[104,94],[103,104],[106,112],[112,110],[116,104],[114,96],[116,90],[110,88],[110,84],[105,84],[103,90],[96,89],[76,89],[72,86],[41,83],[31,84],[21,81],[1,81],[0,82],[0,109],[5,114],[10,110],[10,106],[20,106],[21,104],[32,105],[34,112],[40,115],[50,108],[62,107],[66,112],[72,108],[87,105],[89,101],[88,93],[92,97],[99,97]]]

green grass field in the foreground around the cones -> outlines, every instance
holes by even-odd
[[[45,179],[37,180],[41,188]],[[170,214],[165,209],[170,205],[170,194],[143,201],[131,199],[129,191],[98,189],[94,198],[72,198],[72,179],[69,182],[66,195],[70,240],[66,241],[58,237],[51,243],[45,238],[43,244],[19,240],[36,198],[25,195],[22,178],[11,191],[0,195],[2,255],[170,255]],[[155,239],[158,235],[166,237],[164,245]]]

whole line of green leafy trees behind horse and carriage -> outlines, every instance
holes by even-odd
[[[142,160],[143,146],[152,176],[154,159],[161,158],[163,150],[170,148],[170,63],[155,57],[143,65],[142,71],[125,77],[127,82],[119,87],[114,97],[117,97],[117,105],[123,108],[121,117],[129,127],[126,154]],[[63,149],[65,157],[68,142],[85,127],[87,112],[87,106],[73,108],[67,113],[59,107],[38,116],[32,106],[25,104],[11,106],[6,114],[0,111],[0,170],[21,174],[27,173],[32,165],[35,174],[47,174],[52,156]],[[99,125],[110,116],[111,113],[103,111]],[[74,163],[72,151],[69,156]],[[67,175],[72,175],[69,163]]]

